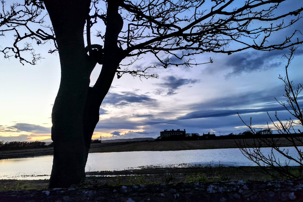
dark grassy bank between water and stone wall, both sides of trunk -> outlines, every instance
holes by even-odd
[[[297,167],[291,167],[295,172]],[[271,168],[268,168],[271,170]],[[274,171],[272,171],[274,172]],[[88,172],[85,180],[74,187],[101,188],[119,185],[167,184],[178,182],[216,182],[238,180],[272,180],[260,168],[253,166],[206,166],[170,168],[149,167],[124,171]],[[0,191],[46,189],[48,180],[0,180]]]

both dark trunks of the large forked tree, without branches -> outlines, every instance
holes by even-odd
[[[122,50],[117,45],[123,20],[118,3],[108,1],[104,61],[94,87],[89,77],[96,61],[85,50],[83,30],[90,0],[45,0],[60,56],[61,81],[52,111],[54,160],[49,188],[69,187],[85,177],[100,105],[114,79]]]

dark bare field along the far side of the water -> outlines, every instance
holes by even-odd
[[[281,147],[293,146],[289,141],[282,138],[277,144]],[[237,140],[236,140],[237,141]],[[246,139],[252,144],[254,139]],[[178,151],[195,149],[231,149],[238,148],[234,139],[223,140],[185,140],[185,141],[142,141],[123,143],[96,143],[92,144],[89,153],[105,152],[132,152],[132,151]],[[0,151],[1,159],[26,158],[35,156],[53,155],[53,148],[23,149]]]

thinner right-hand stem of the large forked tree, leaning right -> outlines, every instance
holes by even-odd
[[[112,85],[116,70],[123,58],[122,50],[118,47],[118,35],[123,27],[123,19],[118,13],[118,9],[119,2],[108,1],[102,70],[94,87],[90,87],[88,90],[83,113],[85,162],[87,161],[94,129],[99,121],[100,106]]]

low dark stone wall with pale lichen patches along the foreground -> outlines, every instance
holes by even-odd
[[[303,180],[55,188],[0,192],[0,201],[303,201]]]

